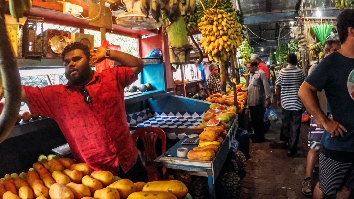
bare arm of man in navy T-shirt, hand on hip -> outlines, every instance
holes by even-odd
[[[298,96],[301,98],[306,109],[315,117],[318,123],[323,125],[325,130],[332,134],[332,136],[338,136],[339,134],[343,136],[343,133],[347,132],[347,130],[333,118],[329,119],[324,114],[316,102],[313,95],[314,92],[317,92],[317,89],[305,81],[300,87]]]

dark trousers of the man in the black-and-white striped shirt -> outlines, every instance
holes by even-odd
[[[280,140],[288,142],[288,150],[292,153],[297,152],[297,144],[301,130],[302,109],[293,111],[283,108],[282,126]]]

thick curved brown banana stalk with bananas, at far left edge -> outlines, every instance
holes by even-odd
[[[12,17],[18,21],[24,11],[32,6],[30,0],[9,0],[9,9]],[[0,0],[0,73],[3,84],[3,93],[6,97],[4,108],[0,115],[0,143],[10,134],[15,125],[20,109],[21,81],[20,74],[11,42],[7,35],[5,24],[5,0]],[[0,87],[2,87],[2,84]]]

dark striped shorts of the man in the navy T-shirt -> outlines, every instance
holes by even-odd
[[[320,189],[336,195],[343,187],[354,189],[354,153],[320,148]]]

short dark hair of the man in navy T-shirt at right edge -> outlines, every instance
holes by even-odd
[[[348,37],[348,27],[354,28],[354,10],[345,9],[337,17],[337,31],[339,40],[343,44]]]

